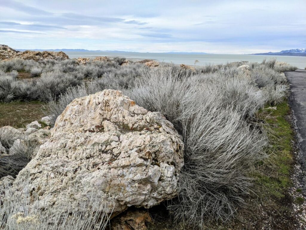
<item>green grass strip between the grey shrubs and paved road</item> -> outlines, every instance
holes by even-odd
[[[293,163],[294,133],[289,121],[286,120],[290,112],[287,101],[277,106],[277,109],[259,111],[259,118],[267,125],[270,146],[267,148],[269,159],[265,162],[264,170],[254,175],[256,185],[262,197],[284,198],[285,191],[291,185],[290,170]]]

